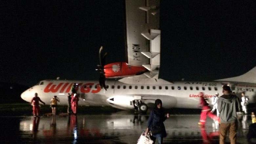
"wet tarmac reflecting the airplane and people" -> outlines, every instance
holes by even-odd
[[[164,124],[164,143],[219,143],[218,122],[207,119],[198,126],[200,115],[171,115]],[[147,126],[148,115],[126,111],[111,115],[0,117],[1,143],[97,143],[136,144]],[[247,143],[250,115],[239,117],[238,143]],[[8,130],[9,129],[9,130]]]

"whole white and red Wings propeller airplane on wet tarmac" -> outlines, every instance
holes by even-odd
[[[222,94],[222,86],[229,85],[239,97],[249,97],[249,103],[256,103],[256,67],[233,78],[215,81],[175,81],[159,78],[160,29],[159,0],[126,0],[126,58],[127,62],[105,65],[106,53],[99,50],[99,81],[44,80],[21,94],[31,102],[38,93],[44,102],[50,102],[56,95],[60,105],[67,105],[67,94],[77,83],[78,105],[112,106],[118,109],[134,109],[146,112],[161,99],[165,108],[199,108],[199,92],[211,101],[216,92]],[[108,81],[105,78],[119,78]]]

